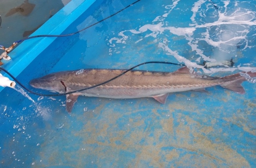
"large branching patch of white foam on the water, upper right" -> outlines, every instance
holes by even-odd
[[[127,32],[134,34],[143,34],[143,38],[137,40],[135,43],[142,41],[148,37],[154,37],[155,40],[160,41],[158,47],[164,50],[167,55],[173,55],[177,61],[184,62],[188,67],[194,68],[203,68],[195,62],[191,62],[184,56],[179,55],[176,51],[171,49],[171,46],[168,46],[168,39],[164,39],[159,36],[165,31],[169,31],[173,35],[182,36],[188,42],[187,44],[191,47],[191,51],[195,51],[197,55],[193,56],[196,62],[204,61],[222,61],[231,59],[239,48],[239,50],[245,50],[247,48],[254,48],[256,46],[252,45],[250,38],[252,35],[248,36],[251,33],[251,26],[256,25],[256,12],[252,11],[250,8],[246,8],[246,5],[243,5],[247,2],[232,2],[230,0],[221,1],[218,5],[218,10],[214,13],[207,14],[208,10],[214,8],[212,4],[209,4],[207,0],[198,0],[194,3],[191,8],[192,15],[190,20],[193,24],[189,24],[188,27],[174,27],[170,25],[168,21],[168,15],[173,11],[173,9],[178,9],[177,5],[180,0],[173,0],[170,5],[165,5],[166,9],[169,11],[163,11],[163,14],[159,14],[152,23],[154,24],[145,24],[141,25],[138,29],[125,30],[118,33],[118,37],[113,37],[109,40],[110,44],[113,43],[124,43],[129,37]],[[231,4],[233,3],[233,4]],[[203,8],[203,5],[206,6]],[[234,7],[234,5],[236,7]],[[214,19],[205,19],[211,15],[209,18],[214,17]],[[199,22],[200,21],[200,22]],[[199,30],[201,34],[198,33]],[[201,31],[202,30],[202,31]],[[196,36],[196,38],[195,38]],[[255,34],[254,34],[255,36]],[[160,40],[159,40],[160,39]],[[206,47],[200,46],[199,41],[204,41],[209,45],[209,49],[213,48],[213,55],[205,55],[204,50],[207,50]],[[208,49],[208,50],[209,50]],[[249,64],[244,64],[248,65]],[[205,73],[215,73],[218,71],[234,71],[234,70],[243,70],[250,71],[250,67],[237,66],[233,68],[211,68],[204,69]]]

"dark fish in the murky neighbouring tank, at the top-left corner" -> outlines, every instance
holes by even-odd
[[[23,4],[12,8],[7,14],[5,14],[5,17],[11,16],[15,13],[20,13],[23,16],[28,16],[34,9],[35,4],[29,3],[28,0],[25,0]]]

